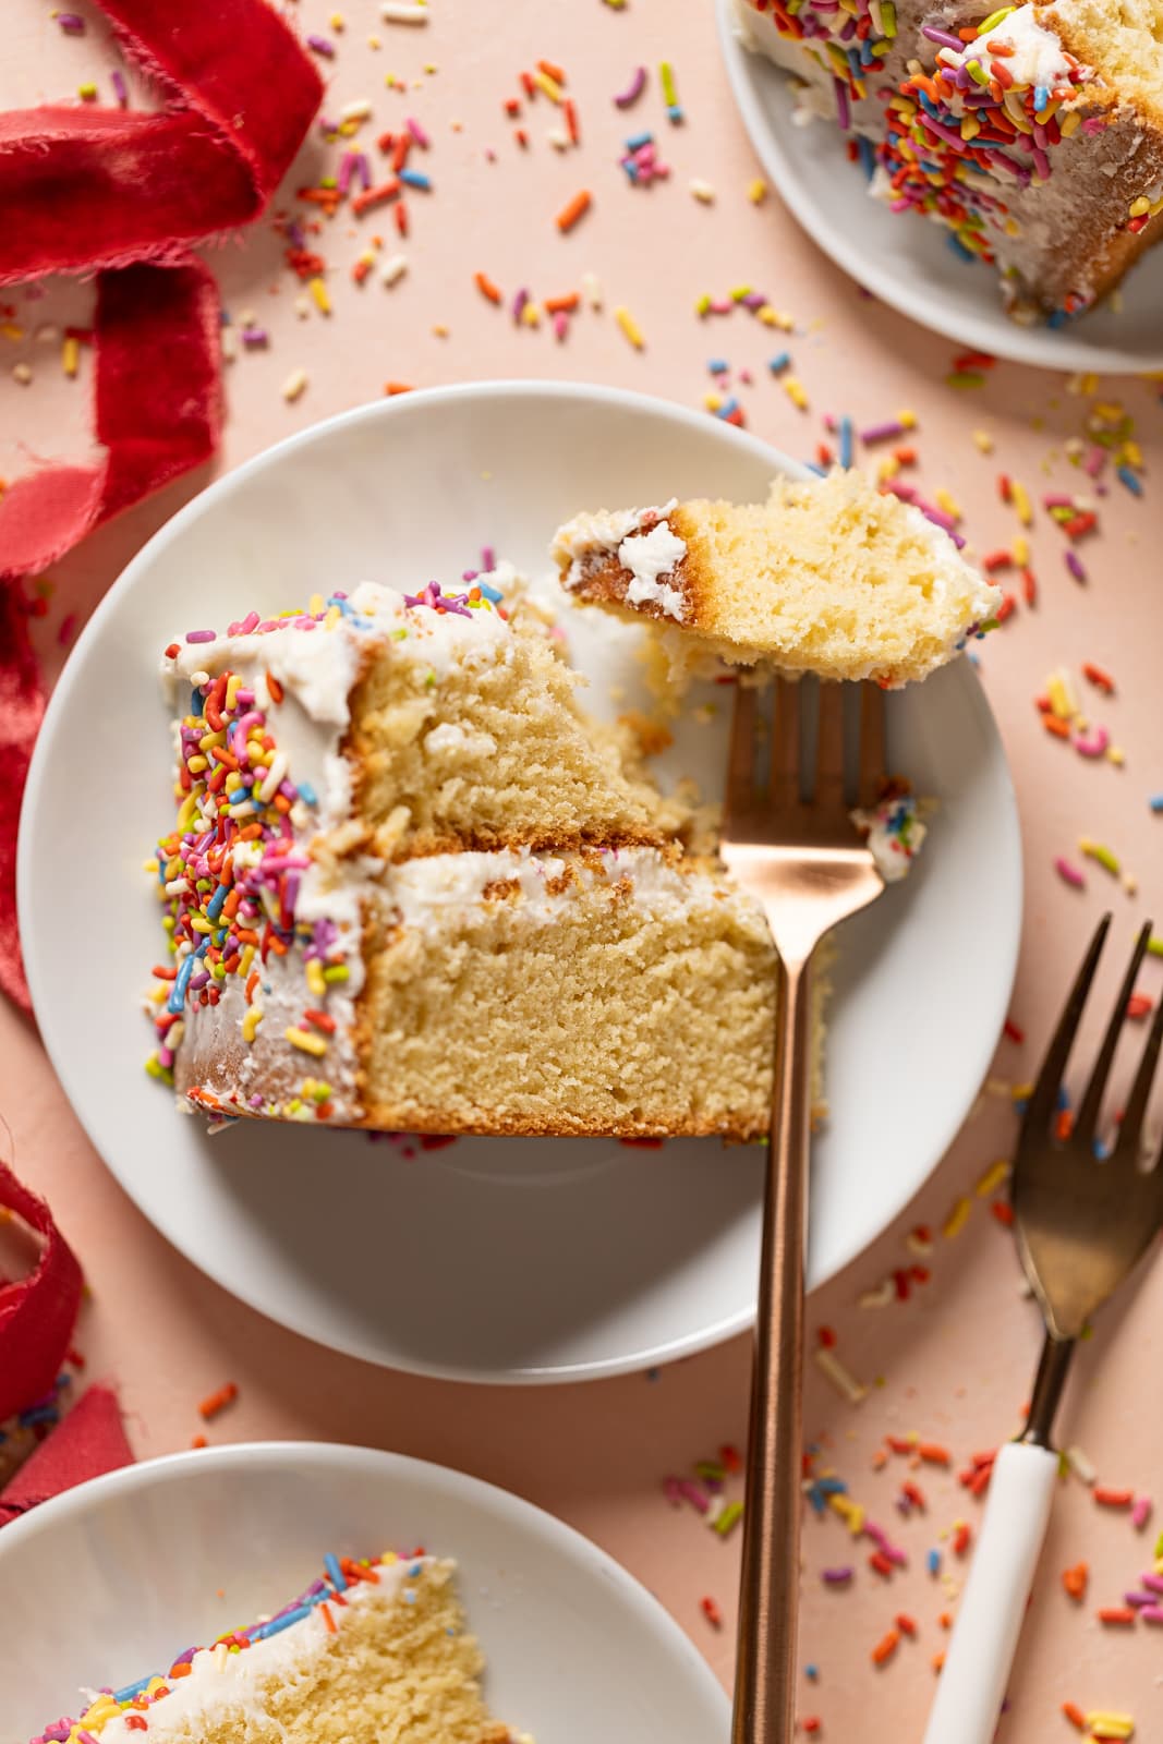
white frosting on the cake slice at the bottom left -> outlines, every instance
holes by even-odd
[[[413,1584],[410,1570],[417,1563],[427,1568],[432,1561],[432,1557],[413,1557],[391,1564],[377,1563],[378,1585],[361,1580],[347,1587],[343,1594],[347,1604],[331,1601],[328,1606],[337,1629],[342,1629],[352,1608],[406,1603]],[[188,1676],[167,1679],[169,1695],[145,1709],[146,1732],[131,1728],[127,1714],[119,1714],[101,1727],[98,1734],[101,1744],[139,1744],[141,1739],[148,1744],[166,1744],[171,1737],[188,1741],[202,1725],[213,1725],[221,1732],[227,1718],[235,1725],[262,1723],[267,1718],[267,1685],[295,1683],[328,1650],[331,1639],[323,1611],[316,1606],[296,1624],[265,1641],[255,1641],[241,1653],[228,1653],[225,1646],[201,1648],[190,1662]]]

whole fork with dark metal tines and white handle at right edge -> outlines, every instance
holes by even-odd
[[[1163,1045],[1163,1001],[1151,1024],[1118,1139],[1095,1155],[1111,1062],[1151,938],[1144,926],[1067,1139],[1053,1113],[1083,1006],[1111,926],[1086,952],[1030,1095],[1010,1182],[1013,1231],[1046,1325],[1025,1428],[1001,1449],[985,1521],[957,1611],[926,1744],[989,1744],[1006,1693],[1025,1603],[1058,1474],[1051,1430],[1074,1346],[1163,1226],[1163,1156],[1146,1170],[1144,1116]]]

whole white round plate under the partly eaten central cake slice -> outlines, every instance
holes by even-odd
[[[141,1069],[162,940],[143,860],[171,811],[160,649],[249,605],[371,577],[453,581],[495,546],[528,574],[582,504],[765,494],[764,443],[663,401],[560,384],[401,396],[281,443],[197,497],[98,607],[52,696],[24,800],[19,905],[40,1029],[98,1151],[157,1228],[244,1301],[324,1345],[462,1380],[577,1380],[687,1355],[755,1306],[760,1151],[677,1141],[462,1139],[405,1158],[364,1134],[242,1121],[207,1137]],[[554,589],[563,602],[565,596]],[[574,656],[628,687],[628,640]],[[718,719],[671,771],[713,792]],[[624,706],[624,703],[622,703]],[[811,1278],[915,1193],[1006,1015],[1020,848],[1001,741],[961,661],[891,705],[893,757],[942,802],[931,851],[842,938],[816,1144]],[[537,1015],[530,1013],[530,1022]]]

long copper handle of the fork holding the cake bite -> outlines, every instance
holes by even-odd
[[[732,1744],[790,1744],[795,1730],[809,1114],[811,998],[804,961],[781,966],[776,994]]]

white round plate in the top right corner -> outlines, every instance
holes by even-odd
[[[971,351],[1044,370],[1133,375],[1163,370],[1163,248],[1126,276],[1121,307],[1105,302],[1062,328],[1018,326],[1001,307],[992,267],[961,260],[949,232],[868,195],[846,136],[828,122],[795,124],[793,82],[743,47],[734,0],[718,0],[718,38],[734,99],[776,194],[825,255],[900,314]]]

